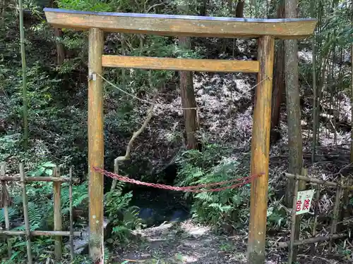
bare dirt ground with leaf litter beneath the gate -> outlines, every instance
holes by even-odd
[[[116,263],[246,263],[246,235],[215,234],[209,227],[196,225],[191,220],[150,227],[134,235],[139,237],[138,241],[116,252]],[[298,260],[300,264],[349,263],[337,256],[323,258],[305,254],[299,255]],[[280,263],[287,263],[287,250],[269,249],[265,264]]]

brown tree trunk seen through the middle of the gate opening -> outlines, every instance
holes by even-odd
[[[189,6],[180,6],[183,14],[189,13]],[[190,37],[179,37],[179,46],[182,49],[191,49]],[[181,103],[183,105],[186,130],[186,144],[188,149],[197,149],[196,131],[198,130],[198,115],[196,109],[195,92],[193,90],[193,73],[179,71]]]

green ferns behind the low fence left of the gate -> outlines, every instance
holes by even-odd
[[[54,163],[44,162],[33,168],[28,175],[31,176],[47,176],[52,175]],[[67,175],[65,175],[67,176]],[[23,218],[22,194],[20,189],[11,189],[13,207],[9,208],[9,216],[11,222],[18,222]],[[53,212],[53,184],[51,182],[32,182],[27,184],[28,194],[28,216],[30,219],[30,230],[53,230],[54,212]],[[85,208],[88,210],[88,185],[87,182],[73,186],[73,208]],[[68,184],[61,184],[61,210],[63,214],[63,225],[68,225],[69,214],[69,195]],[[22,221],[21,221],[22,222]],[[4,215],[0,211],[0,225],[4,223]],[[13,230],[25,230],[25,225],[14,227]],[[11,242],[13,245],[13,256],[11,263],[21,263],[26,256],[26,241],[24,237],[13,237]],[[37,260],[45,260],[48,256],[42,253],[43,250],[52,251],[54,245],[53,239],[50,237],[35,237],[32,239],[32,253]],[[6,244],[0,246],[0,256],[6,254]],[[9,261],[9,260],[6,260]],[[5,264],[4,262],[1,264]],[[83,262],[80,262],[83,263]]]

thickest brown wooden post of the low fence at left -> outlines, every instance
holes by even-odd
[[[54,168],[53,177],[60,177],[59,168]],[[54,231],[61,231],[61,182],[53,182],[54,187]],[[55,237],[54,256],[56,261],[62,258],[62,237]]]

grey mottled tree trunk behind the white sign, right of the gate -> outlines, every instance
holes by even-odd
[[[297,18],[297,1],[285,0],[286,18]],[[289,173],[299,174],[303,165],[303,139],[301,136],[301,113],[298,77],[298,43],[296,39],[285,40],[285,77],[288,115]],[[294,180],[289,180],[286,204],[292,208]]]

